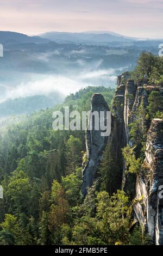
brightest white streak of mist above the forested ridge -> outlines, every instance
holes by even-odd
[[[70,74],[69,77],[61,75],[41,76],[40,78],[35,78],[34,81],[20,83],[15,88],[8,87],[5,92],[5,99],[48,95],[53,92],[66,96],[87,86],[114,86],[116,80],[115,71],[115,69],[83,71],[78,76]]]

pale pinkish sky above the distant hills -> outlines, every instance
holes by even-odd
[[[0,31],[112,31],[163,38],[163,0],[0,0]]]

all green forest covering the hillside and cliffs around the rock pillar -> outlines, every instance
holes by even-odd
[[[137,185],[135,191],[135,184],[139,184],[139,179],[142,182],[146,176],[149,178],[150,172],[156,172],[156,177],[157,172],[161,175],[162,63],[162,58],[142,53],[136,69],[118,77],[116,92],[104,87],[80,89],[67,96],[62,105],[3,127],[0,138],[0,179],[4,188],[4,199],[0,199],[1,245],[154,243],[145,225],[136,221],[133,208],[139,204],[142,215],[146,215],[146,212],[143,214],[145,197],[136,194],[139,187]],[[90,160],[85,154],[85,131],[53,130],[52,113],[54,110],[64,113],[65,106],[70,106],[71,111],[88,111],[94,93],[101,93],[111,108],[113,126],[97,168],[98,179],[83,197],[82,169]],[[116,137],[119,133],[123,137]],[[149,150],[147,138],[151,139],[153,148],[160,147],[152,171],[150,163],[144,164],[145,151]],[[123,150],[117,151],[122,142]],[[149,150],[147,155],[150,154]],[[117,178],[121,178],[123,186],[117,185]],[[147,183],[149,187],[148,179]]]

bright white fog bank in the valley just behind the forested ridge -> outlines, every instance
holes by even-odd
[[[59,92],[61,95],[68,95],[77,92],[86,86],[115,87],[117,74],[126,67],[116,69],[84,69],[74,71],[74,74],[24,74],[14,77],[13,83],[4,82],[0,84],[0,101],[15,99],[34,95],[48,95]],[[20,80],[22,81],[20,82]]]

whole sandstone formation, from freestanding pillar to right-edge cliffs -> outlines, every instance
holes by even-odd
[[[141,174],[126,175],[121,151],[127,144],[133,147],[136,143],[130,138],[130,124],[137,120],[136,112],[139,112],[140,106],[146,109],[148,96],[153,91],[158,91],[163,96],[161,85],[148,86],[142,81],[134,84],[127,73],[118,76],[111,107],[110,136],[101,137],[97,131],[86,132],[87,162],[83,170],[83,194],[93,184],[105,145],[111,142],[121,167],[122,189],[129,192],[131,199],[135,198],[134,216],[148,230],[153,242],[163,245],[163,199],[159,197],[159,187],[163,186],[163,120],[152,120],[147,133],[144,171]],[[93,95],[91,104],[93,110],[108,109],[102,95]],[[149,124],[145,126],[149,127]]]

